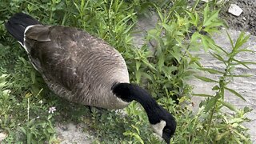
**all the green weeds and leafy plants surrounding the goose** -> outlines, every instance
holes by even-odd
[[[200,5],[200,6],[199,6]],[[123,114],[120,110],[94,110],[90,114],[81,106],[58,98],[46,87],[34,70],[18,42],[6,34],[4,22],[16,12],[23,11],[45,24],[75,26],[105,39],[122,53],[130,71],[131,82],[144,86],[158,103],[174,114],[178,127],[171,143],[250,143],[246,128],[245,107],[236,109],[225,102],[224,92],[242,95],[228,87],[240,62],[235,55],[250,51],[242,47],[249,36],[242,33],[236,42],[230,38],[231,51],[217,46],[213,32],[225,23],[218,18],[220,5],[216,1],[203,4],[200,0],[2,0],[0,2],[0,133],[8,134],[3,143],[58,143],[54,131],[57,122],[82,122],[94,131],[94,143],[161,143],[150,129],[142,106],[132,102]],[[138,49],[133,45],[134,26],[139,17],[158,14],[153,30],[147,31],[146,42]],[[200,42],[199,42],[200,41]],[[151,43],[149,46],[148,43]],[[193,52],[205,50],[222,62],[225,70],[200,65]],[[196,114],[190,102],[192,87],[186,83],[198,70],[221,75],[219,79],[196,76],[214,82],[213,95],[206,97]],[[178,104],[176,104],[178,102]],[[56,111],[54,108],[56,107]],[[234,111],[225,114],[222,107]]]

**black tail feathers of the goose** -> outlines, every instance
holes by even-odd
[[[16,39],[22,46],[24,45],[24,33],[28,26],[40,24],[38,20],[30,15],[17,13],[5,23],[6,30]]]

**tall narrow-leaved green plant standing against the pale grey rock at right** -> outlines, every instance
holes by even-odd
[[[229,91],[231,94],[234,94],[234,96],[237,96],[238,98],[241,98],[242,100],[246,101],[245,98],[242,97],[241,94],[238,94],[237,91],[231,89],[228,87],[228,84],[233,81],[234,77],[249,77],[250,75],[242,74],[242,75],[235,75],[234,70],[236,66],[242,65],[246,68],[249,68],[247,66],[248,64],[256,64],[255,62],[244,62],[239,61],[236,57],[237,54],[242,52],[254,52],[253,50],[249,50],[247,48],[243,48],[242,45],[247,42],[248,38],[250,38],[250,35],[245,35],[245,33],[241,33],[237,39],[237,41],[234,43],[233,40],[230,38],[230,34],[228,34],[228,37],[230,39],[230,45],[232,46],[232,49],[229,51],[224,50],[222,47],[217,46],[218,50],[215,50],[213,52],[210,52],[210,54],[218,59],[218,61],[222,62],[226,68],[225,70],[214,70],[211,68],[204,68],[200,67],[199,70],[203,70],[206,72],[209,72],[210,74],[221,74],[222,76],[218,80],[214,80],[211,78],[206,78],[202,76],[196,76],[197,78],[201,79],[205,82],[214,82],[216,85],[212,88],[214,90],[214,95],[208,95],[208,94],[195,94],[198,96],[207,97],[206,103],[202,104],[205,106],[204,111],[206,113],[209,113],[209,117],[207,118],[207,121],[209,123],[206,125],[206,136],[205,136],[205,142],[207,142],[207,139],[210,136],[210,130],[217,131],[217,136],[213,141],[222,141],[222,138],[230,138],[230,142],[250,142],[249,138],[246,138],[244,136],[244,130],[246,128],[242,126],[242,122],[246,121],[246,118],[243,116],[240,118],[232,118],[226,117],[225,115],[222,115],[222,122],[225,124],[221,124],[218,126],[218,128],[213,128],[213,122],[215,121],[214,118],[218,118],[214,116],[214,114],[222,113],[221,109],[222,107],[226,107],[232,111],[234,111],[235,114],[241,114],[249,112],[250,110],[246,107],[244,108],[244,112],[241,112],[235,108],[231,103],[225,102],[225,94],[226,91]]]

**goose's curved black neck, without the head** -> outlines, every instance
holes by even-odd
[[[161,121],[162,107],[141,87],[130,83],[118,83],[112,86],[113,93],[125,102],[137,101],[146,110],[151,124]]]

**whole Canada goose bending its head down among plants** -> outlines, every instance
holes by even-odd
[[[14,14],[5,26],[55,94],[106,109],[122,109],[137,101],[154,132],[170,143],[174,117],[146,90],[130,84],[126,62],[114,47],[77,28],[45,26],[23,13]]]

